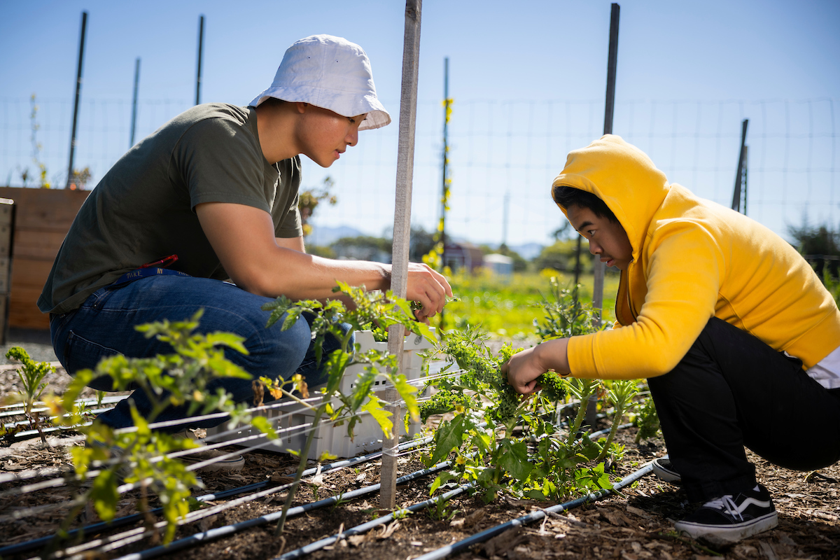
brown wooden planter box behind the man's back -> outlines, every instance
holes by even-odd
[[[36,305],[55,255],[91,191],[0,186],[0,198],[17,207],[12,246],[8,326],[49,329],[50,317]]]

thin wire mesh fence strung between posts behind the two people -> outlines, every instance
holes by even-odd
[[[837,117],[834,98],[804,100],[631,100],[617,102],[613,130],[643,149],[669,177],[697,195],[730,206],[741,123],[749,119],[748,215],[786,236],[787,226],[837,223]],[[181,100],[139,102],[136,139],[190,107]],[[37,110],[33,111],[34,106]],[[387,103],[396,114],[396,102]],[[0,182],[64,186],[72,102],[0,99]],[[129,149],[131,102],[82,102],[76,168],[91,188]],[[413,181],[415,226],[437,223],[442,183],[443,106],[420,102]],[[601,100],[454,100],[449,121],[452,178],[449,235],[474,242],[549,243],[562,223],[549,196],[566,154],[601,135]],[[396,124],[396,123],[395,123]],[[335,181],[339,203],[319,207],[318,227],[339,225],[390,234],[397,126],[361,133],[360,144],[332,168],[304,161],[304,186]],[[305,160],[305,159],[304,159]],[[3,181],[5,179],[5,181]]]

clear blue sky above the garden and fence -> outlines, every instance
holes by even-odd
[[[95,179],[129,147],[135,58],[139,134],[192,104],[203,14],[202,102],[246,104],[269,85],[286,47],[309,34],[362,45],[394,124],[362,133],[360,146],[329,170],[306,162],[304,183],[336,181],[339,205],[316,223],[382,233],[393,216],[404,3],[242,6],[2,0],[0,182],[19,183],[30,165],[33,93],[41,160],[63,181],[82,10],[89,15],[76,164],[90,165]],[[836,224],[840,3],[639,0],[621,8],[614,131],[648,151],[672,181],[728,203],[740,121],[750,118],[750,215],[778,233],[803,214]],[[602,1],[423,3],[417,225],[432,228],[437,217],[449,56],[449,228],[473,241],[499,243],[507,232],[511,244],[547,242],[561,220],[550,180],[568,149],[602,130],[609,18]]]

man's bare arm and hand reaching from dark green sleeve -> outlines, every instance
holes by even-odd
[[[268,212],[259,208],[206,202],[196,207],[198,221],[218,259],[236,285],[260,296],[294,300],[333,296],[336,280],[365,285],[368,290],[391,287],[391,265],[359,260],[322,259],[302,252],[302,238],[278,243]],[[410,263],[407,299],[420,301],[420,320],[443,311],[449,282],[425,264]]]

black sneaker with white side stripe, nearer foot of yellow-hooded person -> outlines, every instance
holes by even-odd
[[[761,484],[741,494],[727,494],[674,524],[683,535],[713,544],[731,544],[779,525],[767,489]]]

